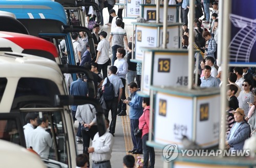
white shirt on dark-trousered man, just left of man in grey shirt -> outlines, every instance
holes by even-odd
[[[109,60],[109,50],[110,42],[105,38],[100,40],[97,47],[97,51],[101,52],[97,61],[98,64],[104,64]]]

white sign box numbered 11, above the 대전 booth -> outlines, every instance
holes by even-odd
[[[156,6],[142,5],[143,13],[141,17],[145,18],[149,22],[156,21]],[[163,22],[163,7],[160,7],[159,21]],[[175,6],[168,7],[167,11],[167,22],[177,22],[177,8]]]

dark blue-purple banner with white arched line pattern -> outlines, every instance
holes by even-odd
[[[244,3],[240,0],[233,0],[231,8],[229,16],[231,21],[230,63],[255,65],[256,1],[248,0]]]

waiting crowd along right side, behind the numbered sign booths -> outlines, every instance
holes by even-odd
[[[197,86],[206,87],[224,87],[222,81],[228,81],[227,101],[227,131],[225,145],[230,150],[242,150],[245,140],[255,132],[255,105],[256,99],[256,71],[254,67],[229,67],[228,79],[222,79],[221,66],[217,65],[217,48],[218,48],[218,2],[212,2],[211,18],[209,17],[209,0],[202,0],[202,4],[196,1],[196,8],[203,7],[205,12],[205,21],[199,19],[202,15],[196,10],[194,25],[190,29],[194,30],[195,43],[189,44],[187,27],[187,13],[189,11],[189,1],[178,1],[182,7],[183,20],[183,49],[195,47],[199,52],[195,54],[195,60],[199,59],[199,68],[194,73],[200,76]],[[207,26],[207,24],[209,24]],[[206,27],[209,29],[206,29]],[[197,67],[195,65],[195,67]],[[195,84],[196,85],[196,84]]]

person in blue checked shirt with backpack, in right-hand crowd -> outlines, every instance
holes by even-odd
[[[215,52],[217,49],[217,43],[213,37],[211,37],[210,32],[204,32],[203,38],[208,41],[208,48],[203,47],[204,50],[206,50],[206,53],[204,55],[206,57],[213,57],[215,58]],[[217,58],[215,58],[217,59]]]

